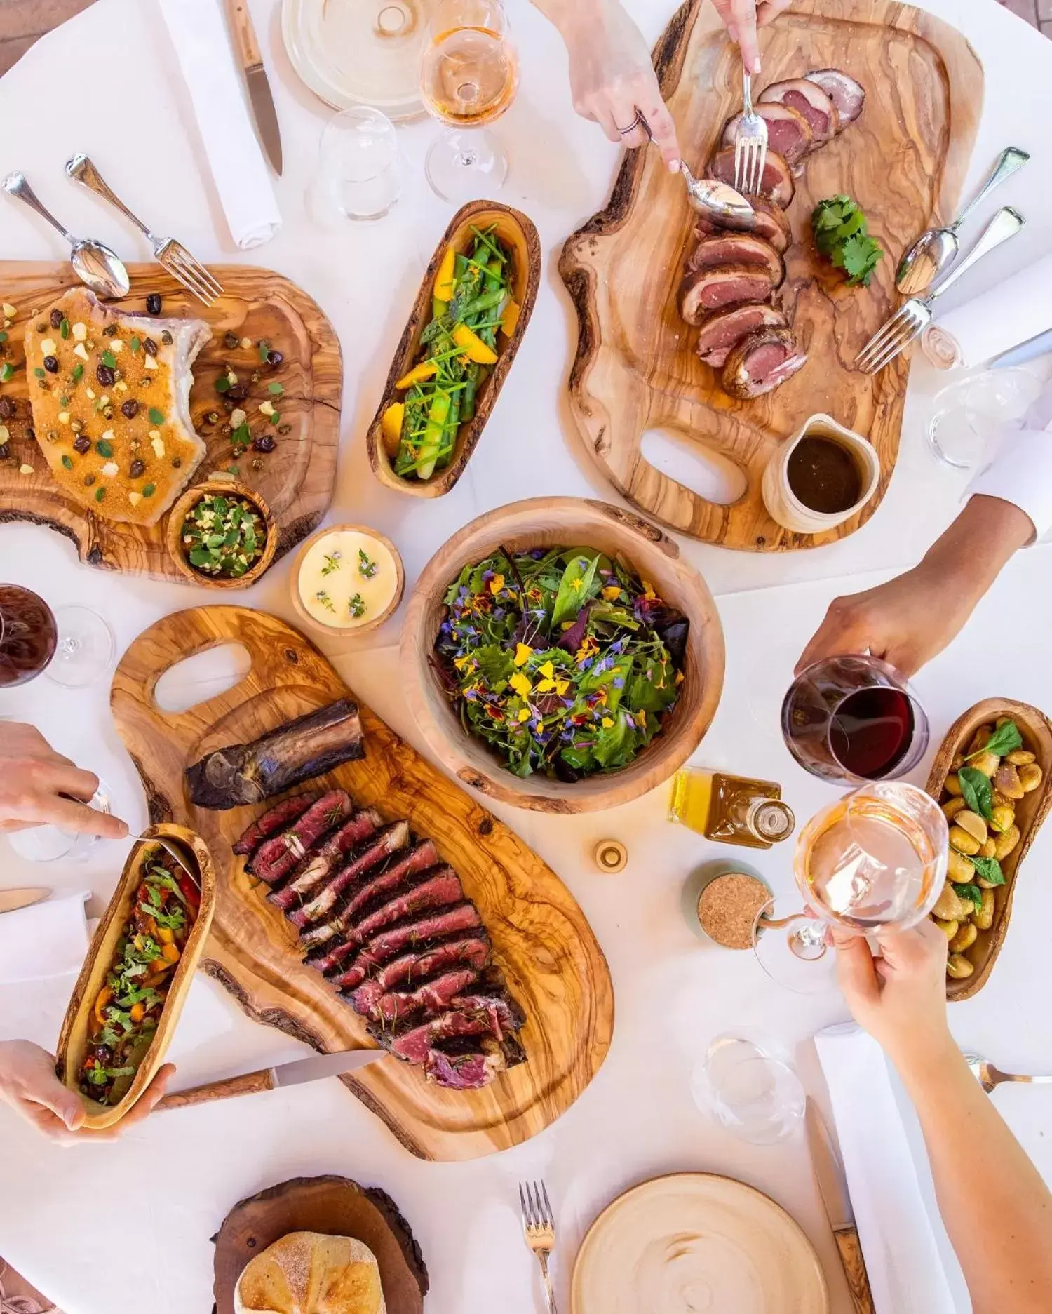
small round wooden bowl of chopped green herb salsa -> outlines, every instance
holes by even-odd
[[[176,502],[165,543],[192,583],[247,589],[274,560],[277,524],[255,489],[234,474],[218,473],[186,489]]]

